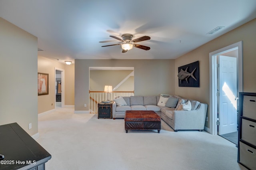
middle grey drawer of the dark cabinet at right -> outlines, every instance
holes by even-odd
[[[242,140],[256,146],[256,123],[242,119]]]

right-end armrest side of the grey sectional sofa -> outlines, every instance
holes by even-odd
[[[194,111],[173,111],[174,130],[203,130],[207,107],[200,103]]]

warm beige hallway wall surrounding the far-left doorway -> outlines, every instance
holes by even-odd
[[[49,94],[38,96],[38,114],[55,109],[55,68],[64,70],[65,105],[74,105],[74,64],[38,56],[38,72],[49,74]]]

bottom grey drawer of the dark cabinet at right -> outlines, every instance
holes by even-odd
[[[243,142],[240,144],[240,163],[244,164],[248,168],[255,170],[256,169],[256,149],[247,146]]]

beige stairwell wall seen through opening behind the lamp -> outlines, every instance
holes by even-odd
[[[90,71],[90,91],[104,91],[105,85],[112,85],[113,89],[132,70],[91,70]],[[115,91],[134,91],[134,77],[129,77]]]

